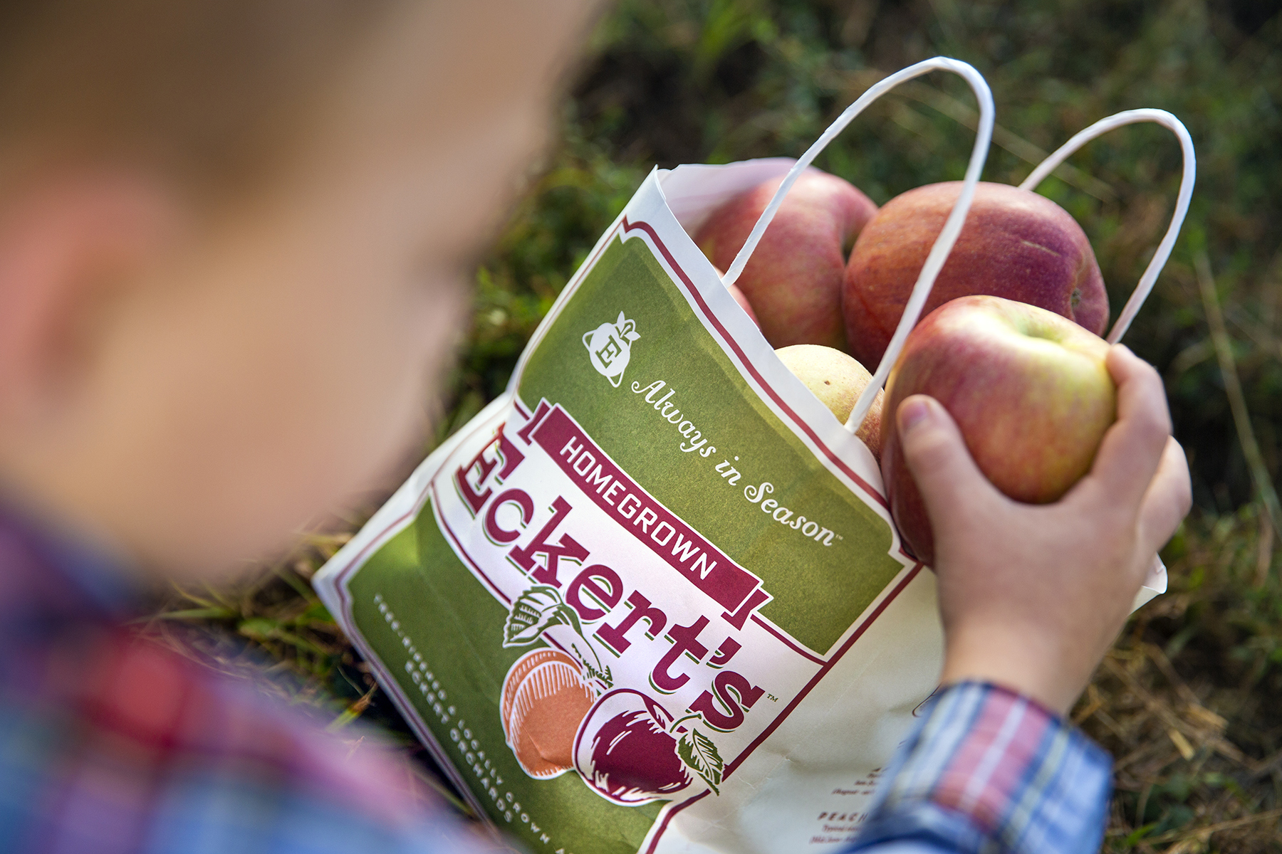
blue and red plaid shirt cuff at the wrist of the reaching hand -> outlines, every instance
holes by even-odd
[[[850,851],[1099,850],[1111,759],[1056,714],[996,685],[932,700]]]

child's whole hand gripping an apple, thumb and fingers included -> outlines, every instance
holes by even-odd
[[[1108,367],[1118,420],[1091,471],[1054,504],[997,492],[935,399],[900,405],[904,455],[935,533],[945,684],[992,681],[1067,712],[1188,512],[1188,466],[1161,379],[1123,346]]]

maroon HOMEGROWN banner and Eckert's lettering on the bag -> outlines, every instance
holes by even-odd
[[[624,602],[626,590],[619,574],[600,556],[590,554],[569,533],[573,529],[573,503],[564,494],[556,495],[551,503],[551,519],[529,536],[523,535],[520,526],[508,528],[500,520],[499,510],[504,506],[518,510],[522,525],[533,520],[535,499],[519,488],[503,489],[501,481],[536,448],[555,460],[623,530],[724,608],[722,620],[733,630],[742,630],[747,617],[769,600],[756,576],[633,483],[559,406],[544,402],[535,416],[512,435],[505,426],[500,426],[494,442],[460,465],[453,480],[486,538],[505,548],[508,558],[531,581],[554,588],[583,622],[606,617]],[[581,498],[576,497],[576,501]],[[573,577],[563,574],[563,566],[573,567]],[[581,566],[585,568],[579,570]],[[677,691],[691,679],[678,666],[682,659],[713,667],[718,672],[710,680],[709,690],[690,704],[690,711],[697,712],[713,729],[737,729],[764,690],[727,667],[742,648],[735,632],[719,636],[708,616],[699,616],[685,626],[669,625],[668,615],[655,604],[662,602],[667,590],[662,583],[656,588],[647,592],[651,595],[640,589],[632,590],[626,599],[628,612],[615,625],[603,622],[592,632],[592,639],[600,640],[615,656],[623,656],[638,640],[663,643],[665,652],[649,681],[665,694]]]

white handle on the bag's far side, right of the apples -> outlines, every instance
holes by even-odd
[[[1077,133],[1072,140],[1061,145],[1055,154],[1042,160],[1041,164],[1033,169],[1033,173],[1024,178],[1024,183],[1019,184],[1020,189],[1035,189],[1037,184],[1046,179],[1046,175],[1049,175],[1055,166],[1064,163],[1069,155],[1076,152],[1095,137],[1108,133],[1114,128],[1120,128],[1126,124],[1137,124],[1140,122],[1153,122],[1155,124],[1160,124],[1176,134],[1176,138],[1179,140],[1179,149],[1183,152],[1185,174],[1179,179],[1179,195],[1176,197],[1176,210],[1170,215],[1170,225],[1167,228],[1167,236],[1161,238],[1161,243],[1158,245],[1158,251],[1154,252],[1147,269],[1145,269],[1144,275],[1140,277],[1140,283],[1135,286],[1131,298],[1127,300],[1126,306],[1122,309],[1122,314],[1118,315],[1117,323],[1114,323],[1113,329],[1109,330],[1108,342],[1110,344],[1115,344],[1122,341],[1122,335],[1124,335],[1126,330],[1131,328],[1131,321],[1135,320],[1135,315],[1140,311],[1140,306],[1142,306],[1144,301],[1149,298],[1149,293],[1153,291],[1153,286],[1158,282],[1158,275],[1161,273],[1161,268],[1167,265],[1167,259],[1170,257],[1170,250],[1174,248],[1176,238],[1179,237],[1179,227],[1183,225],[1185,215],[1188,213],[1188,200],[1192,198],[1194,182],[1197,178],[1197,156],[1194,154],[1194,141],[1188,136],[1188,129],[1185,128],[1179,119],[1165,110],[1126,110],[1124,113],[1110,115],[1106,119],[1100,119],[1091,127]]]

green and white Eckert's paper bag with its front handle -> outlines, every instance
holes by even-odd
[[[317,575],[458,790],[529,850],[835,850],[935,689],[933,575],[851,431],[870,397],[840,424],[690,234],[788,175],[742,269],[818,150],[940,68],[974,87],[979,132],[879,387],[991,137],[991,96],[955,60],[873,87],[800,161],[653,172],[508,391]]]

